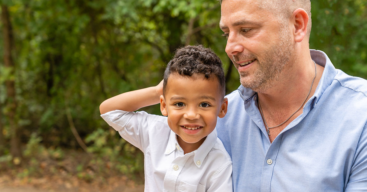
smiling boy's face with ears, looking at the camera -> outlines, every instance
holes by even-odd
[[[217,77],[173,73],[160,104],[162,114],[168,116],[168,126],[179,136],[179,144],[199,147],[214,130],[217,117],[225,116],[228,100],[222,97]]]

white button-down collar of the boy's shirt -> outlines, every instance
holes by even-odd
[[[193,161],[194,164],[200,168],[201,164],[204,162],[205,157],[208,155],[210,150],[213,148],[217,141],[217,130],[213,130],[204,140],[203,144],[200,145],[195,151],[187,153],[185,155],[194,155]],[[179,146],[177,142],[176,134],[171,130],[170,136],[168,138],[168,143],[166,147],[165,155],[169,155],[175,150],[181,151],[183,153],[182,148]]]

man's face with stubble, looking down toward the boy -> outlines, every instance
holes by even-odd
[[[280,22],[257,0],[224,0],[219,25],[228,38],[226,52],[241,84],[258,93],[271,88],[292,59],[288,21]]]

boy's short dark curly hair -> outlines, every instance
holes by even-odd
[[[167,80],[172,73],[183,76],[203,74],[206,79],[216,77],[222,96],[225,95],[225,76],[222,61],[211,48],[202,45],[185,46],[175,51],[164,71],[163,95],[166,93]],[[195,86],[195,85],[193,85]]]

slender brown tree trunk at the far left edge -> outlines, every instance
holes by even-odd
[[[4,35],[4,65],[6,68],[11,69],[11,76],[14,76],[15,66],[12,61],[11,52],[13,47],[13,32],[10,23],[10,16],[8,12],[8,7],[6,5],[1,5],[1,22],[3,23],[3,35]],[[21,157],[21,147],[18,125],[15,120],[15,112],[17,109],[17,102],[15,100],[15,82],[14,79],[8,78],[6,80],[6,90],[7,90],[7,108],[8,112],[6,116],[9,120],[10,126],[10,153],[15,157]]]

